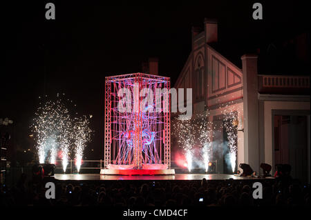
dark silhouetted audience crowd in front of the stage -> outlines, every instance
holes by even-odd
[[[55,180],[54,180],[55,181]],[[310,206],[310,186],[294,179],[265,179],[263,199],[254,199],[252,181],[55,181],[55,199],[46,199],[44,181],[26,174],[1,187],[3,206]]]

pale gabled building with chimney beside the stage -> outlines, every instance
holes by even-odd
[[[176,89],[192,88],[191,120],[205,117],[211,121],[211,129],[214,130],[212,141],[218,145],[214,148],[219,148],[219,143],[226,142],[222,128],[224,115],[233,112],[238,122],[234,125],[237,165],[248,163],[259,172],[260,164],[268,163],[273,172],[276,163],[291,163],[294,168],[303,157],[308,166],[305,164],[303,174],[297,171],[295,175],[308,178],[310,182],[310,77],[299,77],[299,73],[295,76],[263,75],[258,72],[256,54],[244,54],[241,57],[242,68],[238,68],[215,49],[217,41],[217,21],[205,19],[205,28],[201,32],[198,28],[192,29],[192,50],[174,86]],[[305,140],[296,147],[300,150],[294,149],[296,156],[288,154],[278,159],[281,148],[275,144],[279,144],[277,141],[285,135],[285,127],[279,131],[276,128],[282,124],[283,117],[293,117],[292,120],[303,117]],[[291,134],[291,141],[300,139],[296,132]],[[291,148],[282,150],[282,154]],[[304,158],[307,152],[309,156]],[[222,161],[225,159],[216,159],[218,172],[224,172],[225,162]]]

